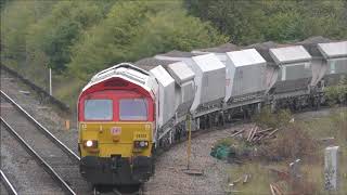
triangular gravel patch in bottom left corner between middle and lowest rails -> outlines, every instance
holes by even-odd
[[[1,125],[1,169],[18,194],[64,194],[56,182]],[[1,194],[5,190],[1,190]]]

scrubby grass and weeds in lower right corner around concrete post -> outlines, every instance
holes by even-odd
[[[314,118],[303,117],[306,118],[305,120],[300,119],[300,115],[310,115],[309,113],[295,116],[297,119],[294,123],[282,126],[277,138],[262,142],[260,145],[248,145],[246,142],[240,144],[242,140],[239,138],[217,141],[215,146],[229,145],[237,150],[250,151],[248,154],[255,154],[252,158],[249,156],[239,157],[242,164],[232,164],[230,169],[226,170],[229,183],[241,176],[252,176],[247,184],[237,184],[232,190],[242,194],[254,192],[269,194],[269,184],[275,182],[282,191],[288,194],[326,194],[324,190],[324,148],[329,145],[338,145],[340,155],[338,172],[342,185],[336,194],[344,194],[347,191],[347,186],[344,185],[347,183],[347,109],[339,107],[321,112],[319,117],[316,115]],[[297,158],[300,159],[301,177],[300,180],[293,182],[283,177],[283,172],[288,171],[290,162]],[[279,170],[280,177],[274,173],[277,171],[272,170]],[[227,192],[230,191],[229,183],[226,184]]]

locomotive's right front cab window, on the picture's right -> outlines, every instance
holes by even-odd
[[[120,120],[147,120],[147,101],[145,99],[119,100]]]

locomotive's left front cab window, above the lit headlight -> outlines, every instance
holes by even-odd
[[[86,120],[112,120],[113,118],[112,100],[86,100],[85,119]]]

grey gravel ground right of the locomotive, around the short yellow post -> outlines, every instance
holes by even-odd
[[[224,170],[230,165],[209,156],[210,147],[217,140],[245,126],[249,125],[211,131],[192,140],[191,167],[203,170],[203,176],[189,176],[182,171],[187,168],[188,142],[162,154],[156,161],[155,176],[145,184],[146,194],[226,194]]]

